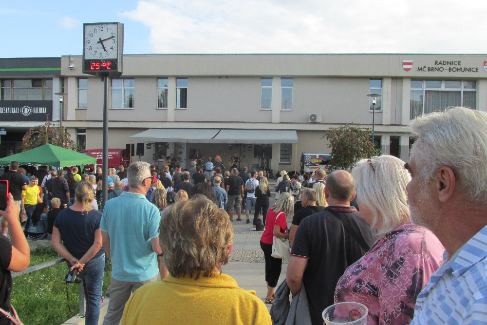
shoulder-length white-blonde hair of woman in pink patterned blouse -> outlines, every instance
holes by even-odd
[[[352,170],[352,181],[360,199],[360,209],[369,210],[371,228],[384,236],[410,221],[406,186],[411,181],[404,161],[391,155],[361,159]]]

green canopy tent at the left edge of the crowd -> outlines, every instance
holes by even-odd
[[[66,167],[75,165],[96,164],[96,158],[84,153],[77,153],[70,149],[45,144],[43,146],[13,154],[0,159],[0,165],[8,165],[11,161],[18,161],[19,165],[51,165]]]

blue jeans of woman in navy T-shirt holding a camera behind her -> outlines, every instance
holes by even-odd
[[[68,268],[71,265],[67,262]],[[85,324],[86,325],[97,325],[98,319],[100,318],[100,301],[103,286],[103,273],[105,271],[105,254],[91,259],[85,264],[83,268],[83,275],[85,277],[86,288],[88,289],[88,294],[90,295],[89,300],[85,297],[85,312],[90,312],[86,315]],[[85,292],[86,295],[86,292]],[[88,304],[90,305],[88,307]],[[89,308],[89,309],[88,309]]]

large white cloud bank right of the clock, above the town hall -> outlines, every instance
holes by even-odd
[[[486,53],[487,2],[142,0],[152,53]]]

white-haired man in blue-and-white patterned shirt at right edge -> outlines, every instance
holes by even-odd
[[[411,324],[487,324],[487,114],[456,107],[411,129],[411,220],[446,249]]]

